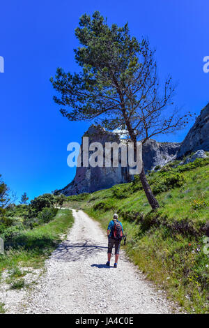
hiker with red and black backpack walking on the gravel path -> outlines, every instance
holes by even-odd
[[[107,263],[106,265],[110,266],[111,251],[115,245],[115,264],[114,268],[118,265],[119,251],[121,246],[121,240],[123,238],[123,225],[118,221],[118,214],[114,214],[113,220],[109,222],[107,228],[108,236],[108,250],[107,250]]]

